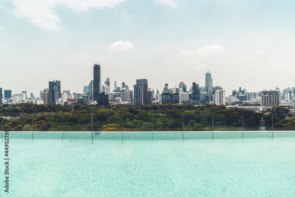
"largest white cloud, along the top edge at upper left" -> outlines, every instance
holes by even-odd
[[[125,0],[117,0],[116,2],[121,3],[123,1]],[[12,13],[18,17],[26,18],[38,26],[42,24],[43,20],[48,20],[50,24],[47,27],[58,30],[61,22],[60,17],[55,12],[55,8],[58,6],[68,7],[75,12],[85,12],[93,7],[100,9],[112,6],[112,9],[114,9],[117,4],[114,3],[114,0],[26,0],[19,1]]]

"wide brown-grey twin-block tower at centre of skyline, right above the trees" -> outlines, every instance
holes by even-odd
[[[134,88],[134,105],[151,105],[152,92],[148,92],[148,80],[137,79]]]

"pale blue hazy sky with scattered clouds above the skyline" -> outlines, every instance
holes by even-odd
[[[39,96],[48,82],[83,93],[101,65],[130,89],[180,82],[228,94],[295,86],[295,1],[0,0],[0,87]],[[199,76],[199,79],[198,79]]]

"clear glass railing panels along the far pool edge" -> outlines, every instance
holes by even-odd
[[[263,117],[263,121],[262,121]],[[1,116],[1,131],[295,131],[295,115],[25,114]]]

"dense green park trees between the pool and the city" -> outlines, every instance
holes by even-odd
[[[20,115],[22,113],[22,115]],[[266,129],[294,130],[287,108],[271,113],[224,105],[33,105],[4,104],[2,127],[10,131],[257,131],[263,116]],[[273,128],[272,128],[273,127]]]

